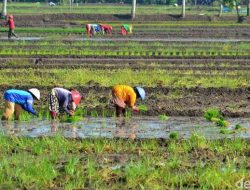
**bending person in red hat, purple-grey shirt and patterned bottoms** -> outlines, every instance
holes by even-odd
[[[55,119],[58,114],[64,112],[73,116],[81,98],[77,90],[69,91],[64,88],[53,88],[48,96],[51,118]]]

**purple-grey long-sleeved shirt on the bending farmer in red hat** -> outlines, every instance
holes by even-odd
[[[59,106],[63,108],[66,113],[70,113],[69,106],[72,102],[71,92],[64,88],[53,88],[59,102]]]

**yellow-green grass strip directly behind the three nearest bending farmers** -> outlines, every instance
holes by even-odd
[[[92,69],[4,69],[0,75],[0,85],[21,84],[39,86],[84,86],[94,81],[101,86],[129,84],[157,86],[159,81],[168,87],[228,87],[249,86],[249,78],[244,75],[192,75],[193,71],[166,71],[161,69],[139,70],[92,70]],[[197,74],[198,72],[196,72]],[[212,72],[210,72],[212,73]],[[233,73],[233,72],[232,72]],[[248,73],[248,71],[241,71]],[[202,72],[201,72],[202,74]],[[216,72],[214,72],[216,74]],[[29,76],[27,78],[27,76]],[[148,77],[150,76],[150,77]],[[180,77],[181,76],[181,77]]]

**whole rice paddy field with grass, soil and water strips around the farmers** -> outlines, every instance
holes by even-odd
[[[67,8],[11,3],[19,38],[0,28],[0,109],[7,89],[41,91],[38,118],[0,124],[0,189],[250,189],[247,18],[138,6],[131,21],[128,5]],[[90,38],[87,23],[112,35]],[[145,88],[139,113],[114,116],[115,84]],[[74,117],[50,121],[54,87],[83,95]]]

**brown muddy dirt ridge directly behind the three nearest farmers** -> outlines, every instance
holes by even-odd
[[[1,94],[7,89],[28,89],[34,86],[2,85]],[[41,90],[41,101],[36,102],[36,107],[47,105],[47,94],[53,86],[35,86]],[[89,112],[97,111],[100,115],[105,110],[113,110],[109,104],[112,87],[104,87],[95,81],[89,81],[87,86],[75,86],[76,89],[88,99],[82,101],[81,107]],[[170,88],[170,87],[145,87],[147,98],[144,102],[148,111],[141,115],[158,116],[166,114],[169,116],[202,116],[208,108],[219,108],[225,116],[250,117],[250,88]],[[93,95],[94,94],[94,95]],[[237,98],[236,98],[237,97]],[[1,108],[3,100],[1,97]],[[94,103],[93,103],[94,102]],[[93,106],[94,105],[94,106]]]

